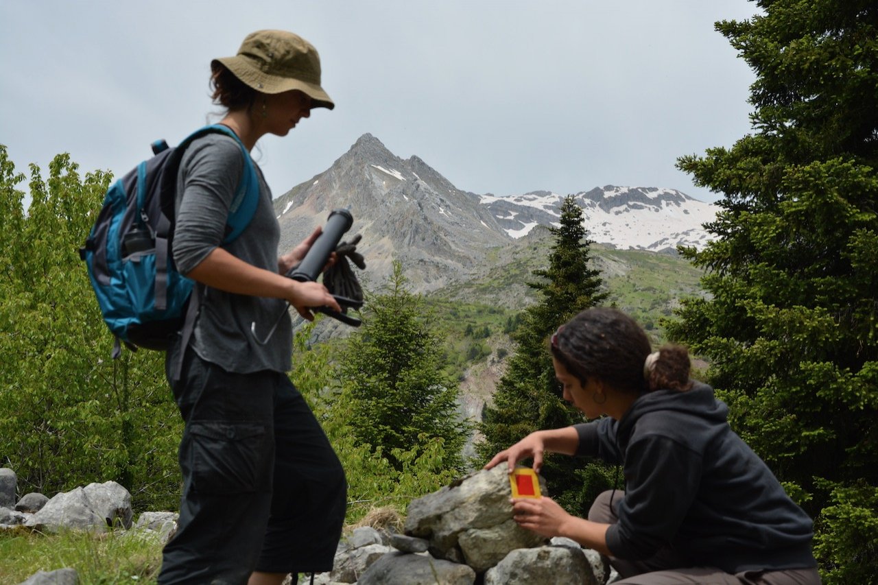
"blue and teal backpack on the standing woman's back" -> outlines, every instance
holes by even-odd
[[[223,243],[241,235],[259,203],[255,166],[234,132],[212,125],[190,134],[176,148],[165,141],[154,142],[154,156],[107,190],[104,206],[79,250],[104,321],[116,336],[113,358],[121,355],[121,343],[131,350],[167,350],[184,327],[195,283],[177,272],[174,264],[176,175],[191,141],[211,133],[232,136],[244,156],[244,174]]]

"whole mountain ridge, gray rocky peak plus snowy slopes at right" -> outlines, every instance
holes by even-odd
[[[588,237],[609,248],[674,252],[707,241],[702,223],[717,206],[681,191],[606,185],[573,194]],[[458,189],[419,156],[400,158],[363,134],[327,170],[275,199],[281,249],[289,249],[337,208],[354,216],[352,233],[369,268],[364,284],[382,283],[399,261],[414,291],[479,278],[492,250],[510,247],[536,226],[558,225],[564,196],[531,191],[511,197]],[[513,247],[515,248],[515,247]]]

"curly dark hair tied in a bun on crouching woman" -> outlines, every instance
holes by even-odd
[[[691,387],[686,348],[663,347],[649,372],[644,372],[650,340],[636,321],[614,308],[592,307],[580,312],[558,328],[550,350],[583,386],[587,379],[595,378],[634,394],[659,389],[684,392]]]

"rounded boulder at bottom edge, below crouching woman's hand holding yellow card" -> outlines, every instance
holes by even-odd
[[[518,549],[487,570],[485,585],[601,585],[581,550],[566,546]]]

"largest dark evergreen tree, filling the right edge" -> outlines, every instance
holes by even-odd
[[[756,73],[754,133],[681,157],[723,194],[686,256],[709,299],[668,332],[816,520],[827,582],[878,582],[878,4],[762,0],[717,23]]]

